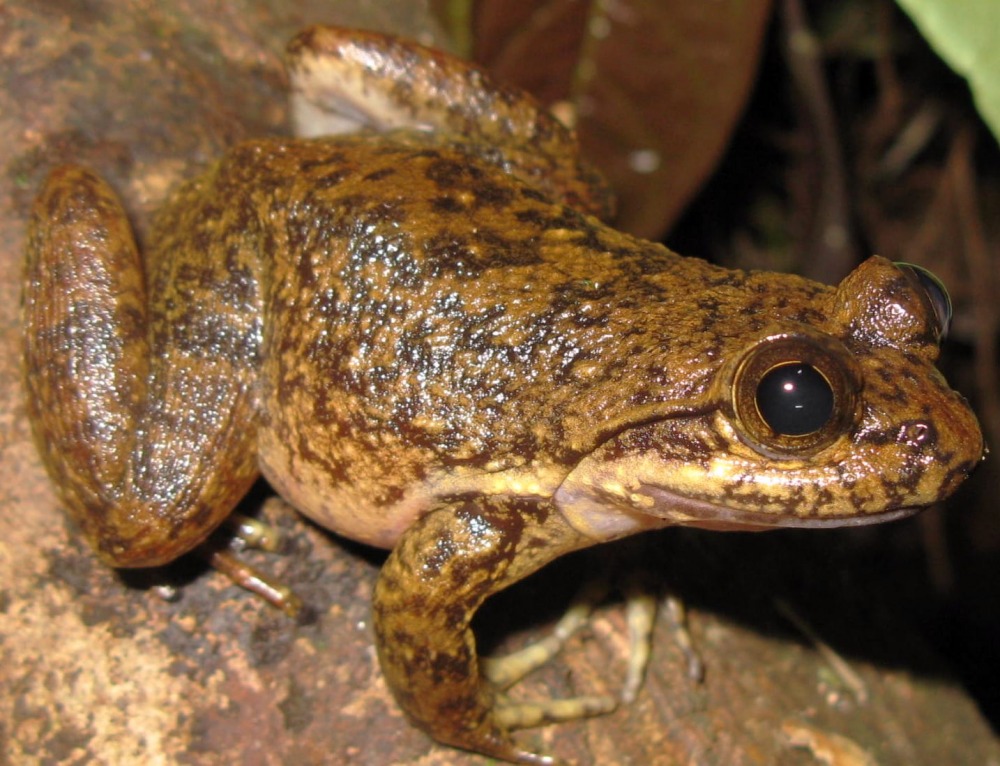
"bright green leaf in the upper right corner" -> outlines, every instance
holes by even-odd
[[[897,0],[938,55],[966,79],[1000,141],[1000,2]]]

